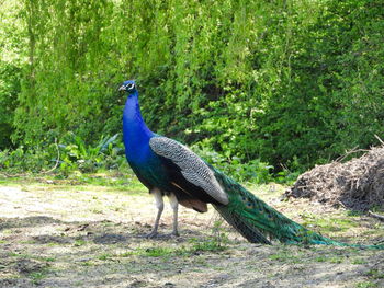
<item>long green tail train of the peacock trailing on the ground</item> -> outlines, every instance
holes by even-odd
[[[211,166],[212,168],[212,166]],[[361,249],[384,249],[384,245],[358,245],[334,241],[292,221],[218,170],[215,176],[229,197],[228,205],[214,205],[222,217],[251,243],[324,244]],[[269,239],[268,239],[269,238]]]

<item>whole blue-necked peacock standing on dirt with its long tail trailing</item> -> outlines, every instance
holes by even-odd
[[[118,90],[127,96],[123,111],[125,155],[138,180],[155,197],[157,207],[147,238],[158,235],[163,196],[168,196],[173,210],[172,235],[179,235],[179,204],[197,212],[206,212],[207,204],[212,204],[251,243],[271,244],[272,240],[279,240],[287,244],[349,245],[292,221],[184,145],[153,133],[142,117],[135,81],[125,81]],[[384,249],[384,245],[369,247]]]

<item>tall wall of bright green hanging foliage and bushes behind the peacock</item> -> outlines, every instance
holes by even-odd
[[[8,5],[16,12],[5,16],[22,21],[7,42],[26,43],[15,50],[27,59],[0,62],[0,72],[16,71],[0,87],[0,110],[14,112],[0,123],[14,125],[16,146],[49,146],[74,131],[93,147],[118,133],[116,88],[131,78],[154,130],[234,165],[297,171],[384,138],[382,1]]]

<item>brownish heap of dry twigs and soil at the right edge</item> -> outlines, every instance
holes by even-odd
[[[286,194],[353,210],[384,207],[384,146],[345,163],[317,165],[298,176]]]

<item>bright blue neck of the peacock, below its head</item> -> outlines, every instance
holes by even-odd
[[[149,139],[154,133],[144,123],[138,92],[134,90],[128,94],[123,112],[123,140],[125,154],[129,162],[145,161],[149,155]]]

